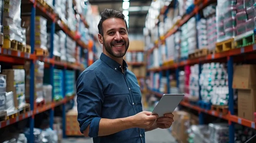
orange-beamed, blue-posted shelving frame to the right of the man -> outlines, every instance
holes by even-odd
[[[163,17],[166,17],[167,11],[168,9],[171,7],[173,9],[175,9],[175,3],[177,0],[172,0],[170,2],[169,6],[164,6],[163,8],[161,8],[160,11],[160,15],[163,15]],[[165,44],[166,43],[166,39],[175,34],[177,31],[180,30],[180,27],[182,25],[184,25],[184,23],[186,23],[187,21],[189,21],[189,19],[191,19],[192,17],[195,17],[196,19],[198,19],[198,17],[200,17],[200,11],[202,11],[206,6],[208,6],[209,4],[212,3],[216,3],[217,0],[202,0],[202,2],[200,2],[199,5],[194,5],[195,7],[193,8],[193,11],[189,14],[185,14],[183,15],[182,19],[176,21],[176,23],[174,24],[174,26],[171,27],[171,29],[168,30],[167,33],[165,33],[164,35],[160,35],[159,31],[158,31],[158,40],[156,40],[154,42],[153,46],[150,46],[150,48],[147,50],[147,55],[151,55],[153,53],[153,51],[155,49],[158,49],[159,47],[161,47],[161,44]],[[158,16],[159,17],[159,16]],[[164,18],[165,19],[165,18]],[[165,20],[164,20],[165,21]],[[256,30],[254,29],[254,32]],[[198,41],[197,41],[198,42]],[[173,46],[174,47],[174,46]],[[154,67],[154,66],[147,66],[147,72],[148,72],[148,76],[150,75],[150,73],[158,73],[158,81],[155,81],[155,79],[152,79],[153,83],[157,83],[159,84],[159,81],[161,81],[161,78],[163,77],[163,74],[165,74],[165,77],[167,77],[167,92],[166,93],[161,93],[160,89],[154,89],[154,88],[148,88],[148,91],[155,95],[156,97],[162,97],[163,94],[167,94],[167,93],[171,93],[170,91],[170,82],[171,80],[168,78],[169,75],[171,73],[175,74],[175,79],[178,82],[179,79],[179,71],[182,67],[186,66],[186,65],[194,65],[194,64],[198,64],[199,65],[199,71],[201,69],[201,65],[203,63],[210,63],[213,61],[221,61],[223,63],[227,63],[227,69],[228,69],[228,95],[229,95],[229,99],[228,99],[228,114],[226,115],[222,115],[221,112],[217,112],[215,110],[209,110],[209,109],[203,109],[201,108],[198,103],[196,104],[192,104],[190,101],[188,101],[188,99],[182,101],[180,103],[181,106],[183,107],[187,107],[190,109],[193,109],[195,111],[198,111],[198,115],[199,115],[199,123],[200,124],[204,124],[204,115],[208,114],[211,116],[215,116],[217,118],[221,118],[224,120],[227,120],[229,123],[229,139],[230,139],[230,143],[235,143],[235,124],[240,124],[249,128],[255,128],[255,122],[241,118],[237,115],[234,114],[234,93],[233,93],[233,88],[232,88],[232,83],[233,83],[233,64],[243,61],[243,60],[252,60],[255,59],[255,51],[256,51],[256,44],[252,44],[249,46],[243,46],[241,48],[233,48],[231,50],[227,50],[227,51],[223,51],[220,53],[212,53],[212,54],[208,54],[206,56],[202,56],[199,58],[194,58],[194,59],[176,59],[176,60],[169,60],[169,61],[164,61],[162,64],[160,64],[159,67]],[[152,57],[148,57],[148,59],[150,59]],[[200,71],[201,72],[201,71]],[[200,72],[198,73],[200,75]],[[179,84],[177,83],[177,88],[179,88]],[[199,90],[199,98],[201,98],[201,93]]]

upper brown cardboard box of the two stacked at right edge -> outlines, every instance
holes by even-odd
[[[234,67],[232,88],[256,88],[256,65],[236,65]]]

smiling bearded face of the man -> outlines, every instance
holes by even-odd
[[[106,51],[113,57],[124,57],[129,47],[129,38],[124,20],[119,18],[106,19],[102,23],[102,28],[104,35],[99,39]]]

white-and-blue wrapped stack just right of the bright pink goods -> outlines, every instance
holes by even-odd
[[[199,100],[199,65],[195,64],[190,67],[189,76],[189,99],[191,101]]]

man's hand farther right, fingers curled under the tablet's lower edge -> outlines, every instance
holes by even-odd
[[[157,128],[170,128],[172,122],[174,122],[174,114],[165,114],[164,117],[158,118],[156,120]]]

